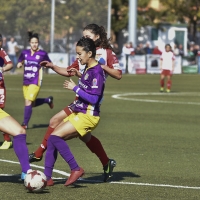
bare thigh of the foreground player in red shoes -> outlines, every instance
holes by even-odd
[[[71,122],[66,121],[62,122],[58,127],[56,127],[51,135],[56,135],[64,139],[71,139],[73,137],[77,137],[78,133]]]

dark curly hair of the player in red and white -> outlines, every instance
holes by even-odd
[[[103,26],[98,26],[97,24],[88,24],[85,28],[83,28],[83,31],[85,30],[90,30],[91,33],[99,35],[99,39],[94,41],[96,47],[113,50],[112,46],[110,45],[111,38],[107,38],[107,33]]]

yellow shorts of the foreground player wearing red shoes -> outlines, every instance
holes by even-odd
[[[100,120],[99,116],[91,116],[89,114],[84,114],[84,113],[72,113],[71,115],[66,117],[63,121],[64,122],[70,121],[77,130],[77,132],[81,136],[84,136],[87,133],[93,131],[97,127],[99,120]]]

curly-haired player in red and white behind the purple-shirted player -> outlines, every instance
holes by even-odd
[[[118,59],[115,53],[112,51],[112,47],[107,39],[107,34],[105,32],[104,27],[100,27],[97,24],[89,24],[83,29],[83,36],[86,38],[91,38],[96,45],[96,60],[101,63],[101,67],[104,69],[106,76],[110,75],[115,79],[121,79],[122,71],[119,67]],[[63,76],[71,76],[74,74],[74,69],[77,69],[82,74],[85,65],[81,65],[78,60],[76,60],[71,66],[67,68],[61,68],[55,65],[52,65],[48,62],[42,63],[45,67],[50,67],[52,70],[57,72]],[[50,119],[49,127],[44,136],[42,144],[40,147],[32,154],[29,155],[30,162],[40,161],[42,159],[42,155],[47,147],[47,140],[53,130],[58,126],[58,124],[67,116],[69,116],[73,112],[73,103],[69,106],[65,107],[62,111],[54,115]],[[95,153],[97,157],[100,159],[103,169],[104,169],[104,181],[107,181],[111,177],[111,173],[113,168],[116,165],[115,160],[109,159],[101,142],[95,136],[91,134],[87,134],[84,137],[80,138],[83,142],[85,142],[86,146],[90,149],[91,152]]]

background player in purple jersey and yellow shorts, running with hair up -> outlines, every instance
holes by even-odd
[[[32,115],[32,107],[44,103],[53,108],[53,97],[37,98],[42,84],[43,68],[40,63],[44,60],[51,62],[47,52],[39,49],[39,36],[37,33],[28,32],[31,49],[22,51],[19,56],[17,67],[24,65],[23,93],[25,99],[24,121],[22,126],[27,129]]]

